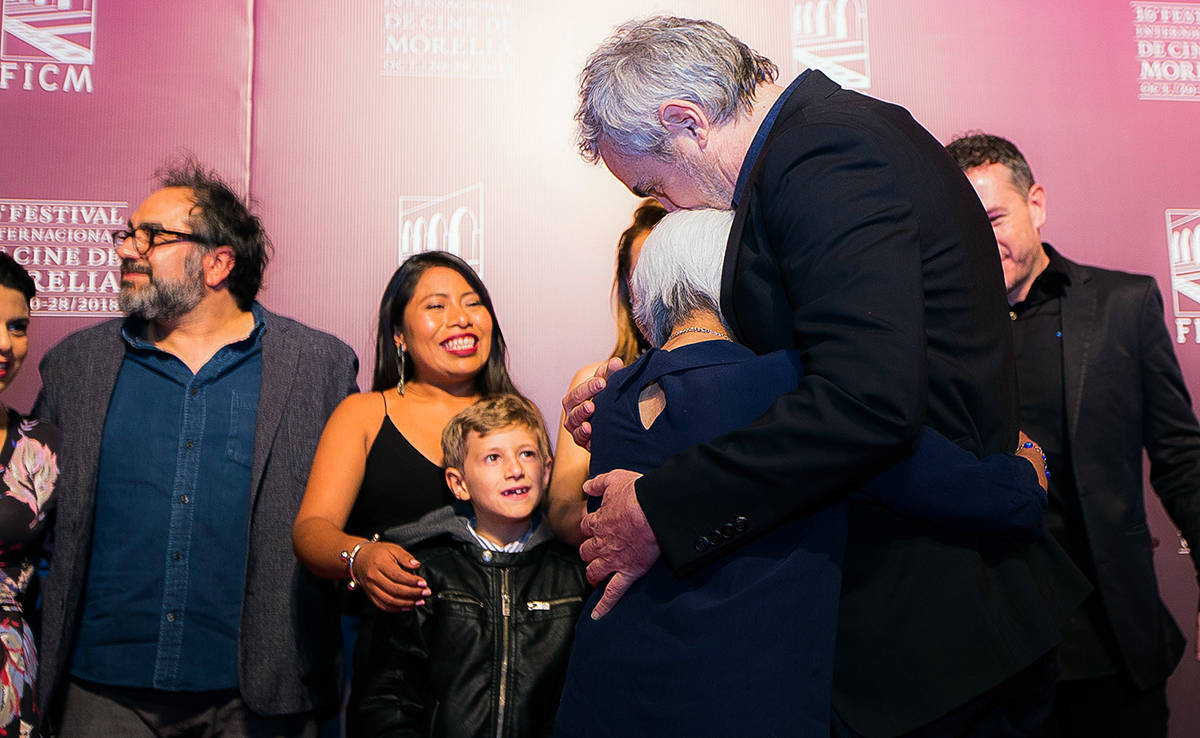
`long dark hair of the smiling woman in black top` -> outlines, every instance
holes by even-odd
[[[504,334],[500,332],[500,324],[496,319],[496,308],[492,307],[492,296],[487,294],[487,288],[484,287],[484,282],[475,274],[475,270],[446,251],[415,253],[404,259],[400,269],[391,275],[388,287],[383,290],[383,298],[379,300],[379,328],[376,334],[376,370],[371,389],[378,392],[391,389],[400,382],[400,368],[396,365],[396,326],[401,325],[404,320],[404,308],[408,307],[409,300],[413,299],[413,293],[416,290],[416,283],[421,280],[421,275],[425,274],[426,269],[432,266],[445,266],[446,269],[457,271],[467,281],[467,284],[470,284],[470,288],[475,290],[484,307],[487,308],[487,313],[492,316],[492,348],[487,355],[487,364],[475,376],[476,391],[482,396],[499,392],[520,395],[516,386],[512,385],[512,379],[509,378],[506,366],[508,349],[504,343]],[[410,378],[414,372],[413,358],[406,355],[404,377]]]

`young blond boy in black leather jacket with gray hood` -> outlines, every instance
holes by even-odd
[[[550,736],[588,584],[541,522],[541,415],[515,395],[481,400],[446,425],[442,450],[458,503],[384,533],[421,560],[433,595],[364,618],[348,732]]]

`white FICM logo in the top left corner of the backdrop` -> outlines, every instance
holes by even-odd
[[[95,0],[2,0],[0,90],[91,92]]]

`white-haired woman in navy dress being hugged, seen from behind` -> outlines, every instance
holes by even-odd
[[[798,352],[757,356],[721,317],[731,222],[728,211],[678,211],[647,238],[631,293],[655,348],[595,397],[593,475],[653,469],[752,422],[799,384]],[[912,458],[859,494],[950,528],[1028,540],[1040,534],[1045,467],[1036,445],[1021,455],[980,461],[926,430]],[[696,545],[726,545],[738,524]],[[655,563],[604,618],[580,622],[556,736],[828,736],[845,535],[839,504],[686,580]]]

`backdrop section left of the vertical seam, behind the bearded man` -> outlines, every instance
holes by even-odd
[[[110,232],[181,151],[250,181],[253,7],[2,0],[0,248],[37,282],[30,353],[2,401],[28,409],[37,360],[120,314]]]

